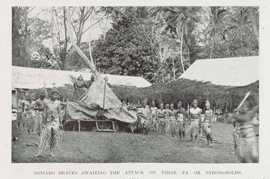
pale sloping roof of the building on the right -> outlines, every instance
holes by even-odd
[[[259,57],[197,59],[180,78],[214,85],[249,85],[259,80]]]

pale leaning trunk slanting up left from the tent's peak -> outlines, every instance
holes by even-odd
[[[86,64],[89,65],[91,71],[95,74],[95,76],[98,76],[99,73],[95,69],[95,64],[93,64],[92,62],[90,62],[90,60],[88,59],[88,57],[86,57],[86,55],[83,53],[83,51],[76,44],[75,39],[74,39],[74,36],[72,35],[72,24],[70,22],[70,10],[69,10],[69,8],[67,8],[67,32],[69,34],[70,41],[72,41],[72,46],[74,47],[74,49],[76,50],[76,52],[78,52],[79,55],[81,56],[81,58],[83,59],[83,61],[86,62]]]

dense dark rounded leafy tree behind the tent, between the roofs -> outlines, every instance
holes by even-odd
[[[153,82],[158,69],[158,43],[147,22],[135,15],[114,24],[106,38],[97,41],[93,54],[101,73],[143,76]]]

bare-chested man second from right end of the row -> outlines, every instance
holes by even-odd
[[[189,109],[189,117],[191,120],[191,123],[189,125],[189,132],[190,132],[190,138],[191,141],[194,141],[198,137],[198,124],[201,122],[201,108],[198,108],[198,101],[197,99],[194,99],[193,101],[193,108]]]

